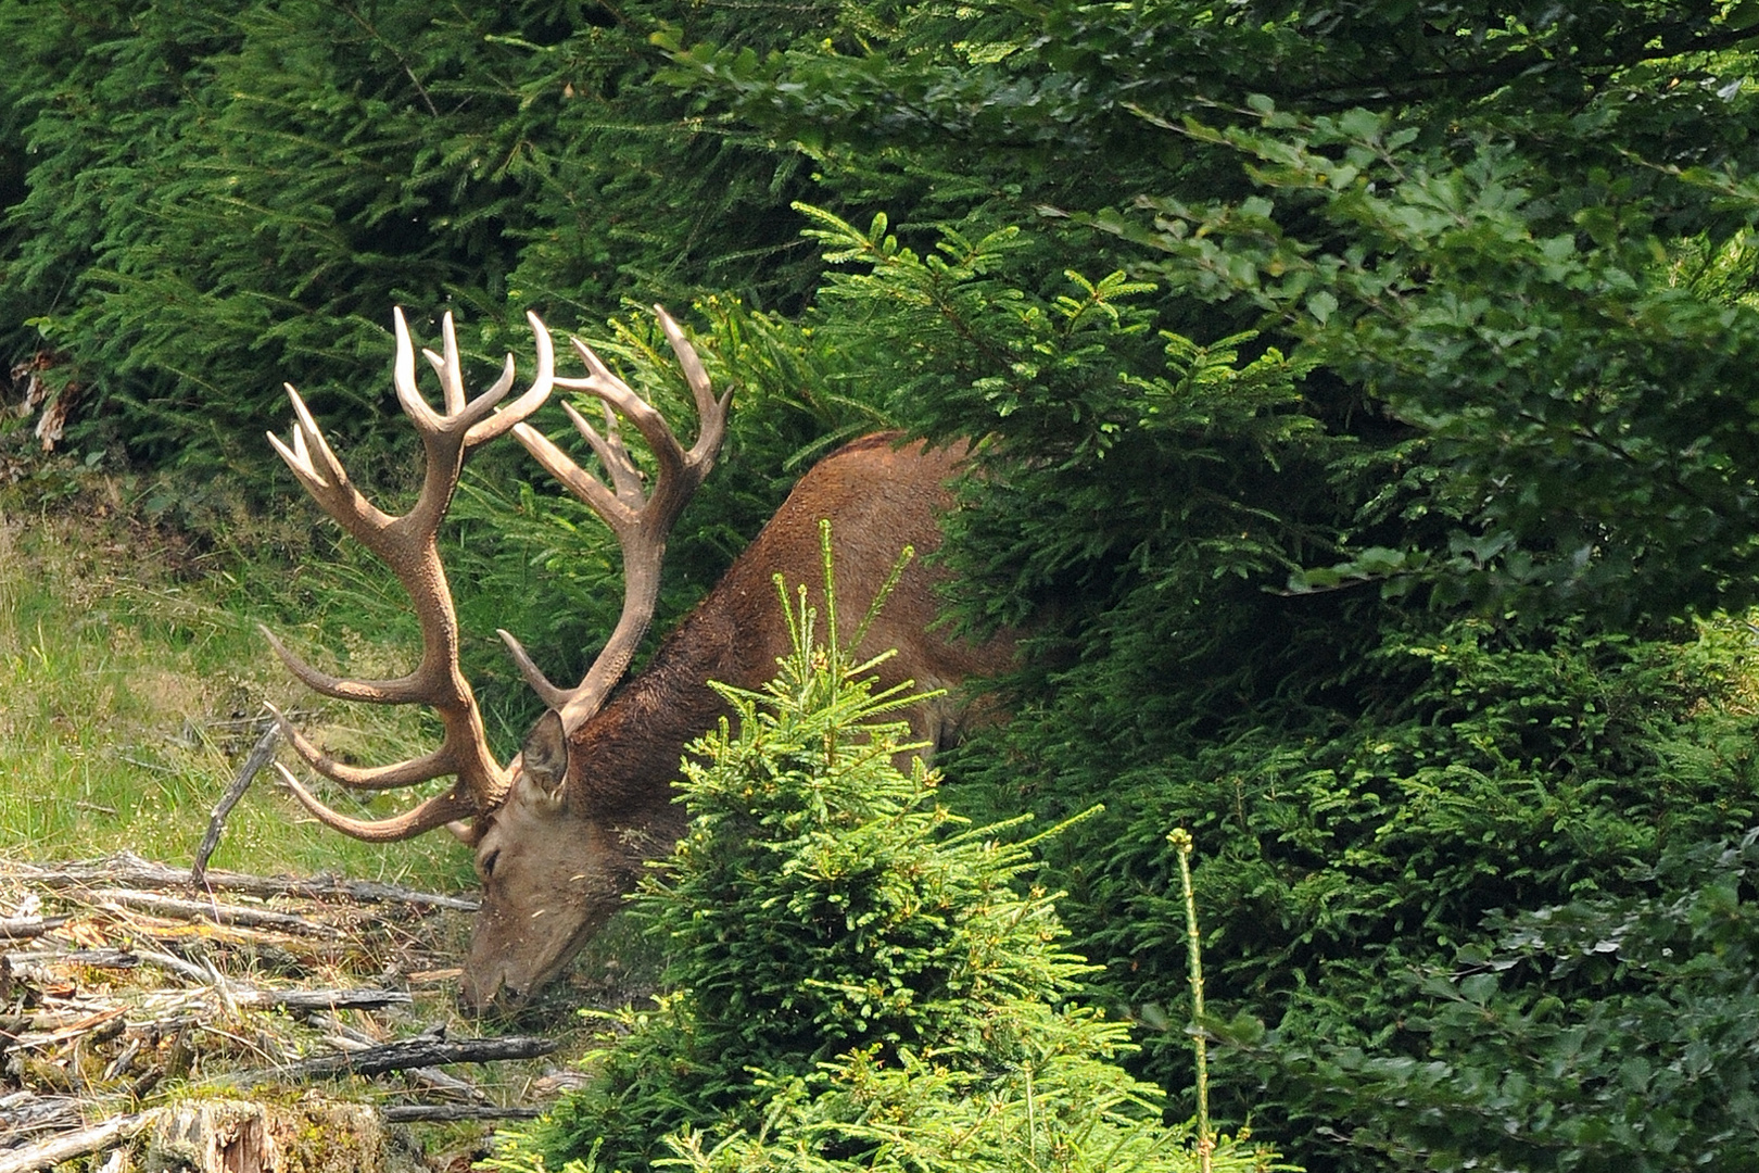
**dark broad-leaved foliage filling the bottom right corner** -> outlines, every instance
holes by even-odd
[[[1636,895],[1493,918],[1451,965],[1404,974],[1416,1055],[1303,1043],[1261,1057],[1393,1164],[1750,1169],[1755,867],[1759,832],[1683,842],[1629,876]],[[1398,1111],[1372,1108],[1388,1103]]]

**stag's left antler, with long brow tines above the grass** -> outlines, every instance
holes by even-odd
[[[514,357],[507,355],[501,378],[489,390],[475,399],[466,399],[452,315],[445,315],[445,355],[436,355],[431,350],[422,352],[440,375],[445,408],[434,412],[415,387],[415,348],[410,345],[403,311],[396,311],[398,359],[392,382],[398,387],[398,401],[420,434],[426,457],[420,496],[401,517],[380,512],[348,482],[341,461],[331,452],[311,419],[311,412],[292,385],[287,387],[296,417],[292,447],[281,443],[274,434],[269,436],[269,443],[274,445],[274,450],[287,461],[294,477],[317,503],[398,575],[420,621],[422,658],[408,675],[389,681],[357,681],[318,672],[290,652],[274,633],[262,628],[269,645],[274,647],[287,668],[313,691],[338,700],[431,705],[440,712],[445,735],[433,753],[394,765],[357,769],[325,754],[276,712],[281,732],[313,770],[354,790],[410,786],[447,774],[457,777],[449,791],[434,795],[399,816],[364,821],[338,814],[324,805],[285,767],[278,767],[299,800],[320,821],[355,839],[410,839],[473,812],[489,811],[507,795],[507,772],[489,749],[477,698],[459,670],[457,614],[452,608],[452,589],[447,584],[445,566],[440,563],[438,533],[452,494],[457,491],[464,457],[536,412],[556,383],[556,355],[549,331],[535,313],[528,313],[526,320],[536,339],[538,373],[529,390],[505,410],[496,410],[496,404],[514,385]]]

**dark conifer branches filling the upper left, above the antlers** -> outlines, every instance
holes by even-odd
[[[647,84],[661,23],[781,35],[746,18],[0,0],[0,359],[53,348],[81,443],[260,498],[281,382],[343,441],[408,447],[380,410],[394,304],[426,338],[461,310],[485,369],[529,362],[528,308],[572,331],[626,295],[799,304],[816,259],[792,155]]]

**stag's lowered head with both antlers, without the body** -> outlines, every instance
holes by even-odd
[[[536,339],[536,378],[500,412],[496,404],[514,383],[512,355],[489,390],[475,399],[466,397],[452,317],[447,315],[443,353],[424,352],[443,392],[443,410],[434,412],[417,390],[413,346],[403,313],[396,313],[394,383],[398,399],[422,440],[426,461],[420,494],[401,517],[380,512],[354,489],[290,385],[287,392],[296,419],[292,443],[269,436],[274,450],[318,505],[396,573],[420,621],[422,658],[415,670],[392,681],[343,679],[306,665],[271,631],[264,630],[264,635],[292,674],[324,696],[431,705],[443,728],[442,744],[433,753],[373,769],[336,761],[276,712],[283,735],[313,770],[352,790],[412,786],[447,776],[454,777],[454,784],[405,814],[368,821],[331,809],[285,767],[276,769],[313,816],[355,839],[389,842],[450,827],[475,846],[482,909],[463,983],[464,1001],[473,1006],[484,1006],[503,992],[524,995],[566,964],[633,886],[635,869],[644,856],[631,851],[630,837],[649,834],[646,828],[654,823],[675,820],[665,809],[619,812],[616,802],[593,804],[591,811],[572,809],[582,804],[565,786],[570,742],[603,707],[647,631],[660,594],[667,535],[712,468],[726,434],[728,397],[714,397],[702,362],[682,331],[658,306],[656,313],[700,415],[697,443],[688,450],[660,413],[614,376],[584,343],[573,341],[573,348],[586,362],[588,375],[558,378],[552,343],[536,315],[528,315]],[[524,424],[552,387],[582,390],[602,401],[603,431],[595,429],[570,404],[565,403],[563,410],[598,455],[609,484],[579,468],[559,447]],[[619,415],[635,426],[654,455],[658,477],[651,491],[623,445]],[[603,651],[580,684],[568,689],[552,684],[512,635],[500,633],[526,681],[549,707],[533,726],[522,753],[503,767],[489,749],[477,700],[459,670],[457,616],[440,563],[438,529],[457,489],[464,459],[507,431],[617,535],[624,557],[624,605]],[[670,744],[667,769],[672,772],[679,744]],[[628,790],[626,779],[623,788]],[[646,791],[654,790],[646,786]],[[663,783],[658,793],[668,800]],[[646,805],[651,807],[653,802]],[[665,839],[663,834],[660,837]],[[670,839],[660,849],[665,846],[670,846]],[[647,851],[654,853],[658,851]]]

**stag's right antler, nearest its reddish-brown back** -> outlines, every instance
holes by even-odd
[[[672,353],[677,355],[679,366],[684,369],[684,380],[697,399],[700,427],[697,443],[688,452],[677,436],[672,434],[660,412],[630,390],[628,383],[612,375],[598,355],[593,353],[591,346],[580,339],[573,339],[573,348],[586,361],[591,375],[588,378],[558,378],[556,385],[584,390],[602,401],[605,408],[603,433],[588,424],[572,404],[563,403],[563,410],[580,436],[586,438],[586,443],[591,445],[600,464],[605,466],[610,484],[607,485],[598,477],[582,470],[566,452],[551,443],[547,436],[529,424],[521,424],[514,429],[514,438],[526,445],[531,455],[556,480],[563,482],[577,498],[586,501],[610,526],[612,533],[617,535],[617,543],[623,547],[623,616],[617,619],[616,630],[612,630],[603,651],[598,652],[598,659],[588,668],[579,686],[563,689],[551,684],[549,677],[526,656],[526,649],[519,645],[519,640],[507,631],[500,633],[501,640],[507,642],[507,651],[512,652],[521,674],[524,674],[526,682],[544,698],[544,703],[561,716],[563,730],[568,733],[598,712],[612,686],[628,670],[637,645],[647,633],[647,624],[653,623],[654,603],[660,598],[660,566],[665,561],[667,536],[691,494],[697,492],[704,477],[714,468],[714,457],[726,438],[726,404],[732,399],[732,392],[723,394],[719,399],[714,397],[709,387],[709,375],[702,369],[702,359],[697,357],[677,322],[660,306],[654,306],[654,313],[660,317],[660,327],[665,331],[667,341],[672,343]],[[644,492],[642,473],[635,466],[635,461],[630,459],[628,448],[623,447],[617,413],[623,413],[635,424],[635,431],[647,441],[660,464],[660,475],[651,492]]]

